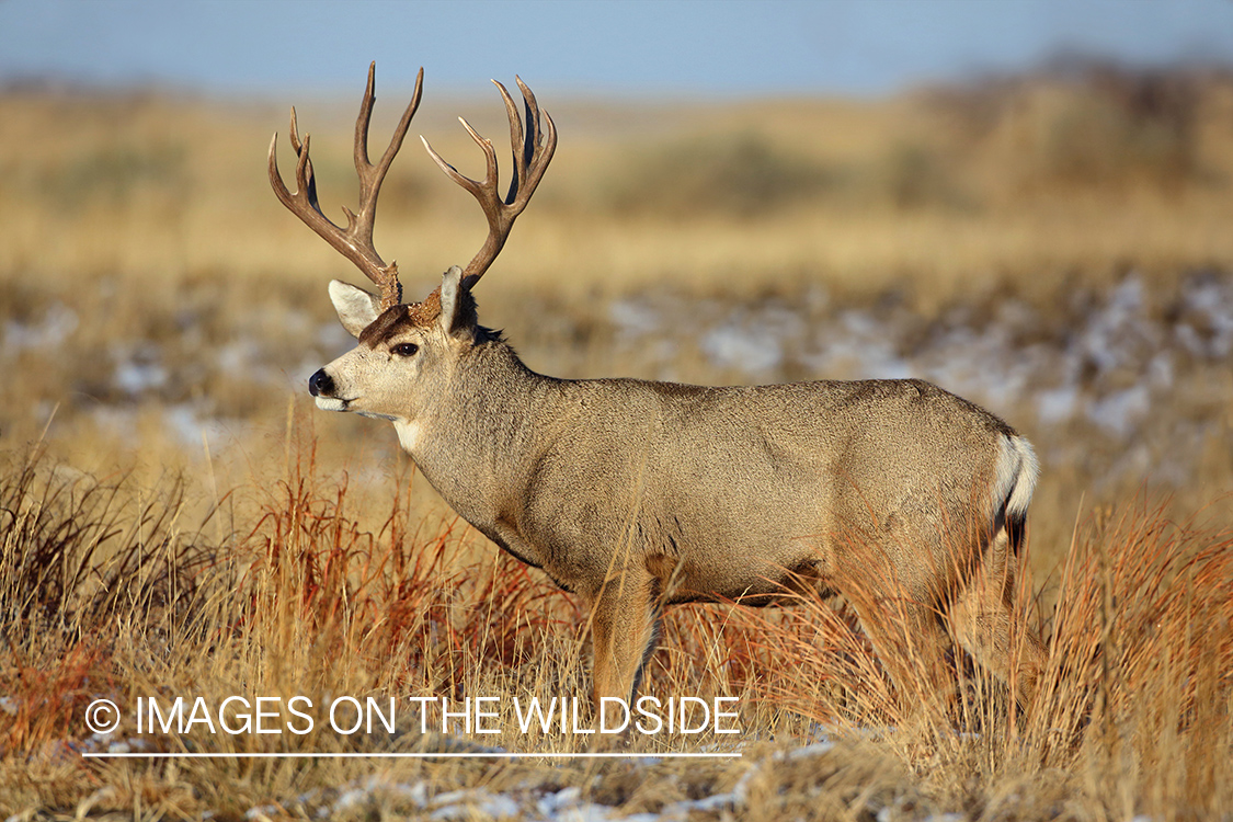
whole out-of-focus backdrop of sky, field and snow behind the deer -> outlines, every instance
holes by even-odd
[[[202,511],[301,434],[356,487],[406,474],[390,426],[312,407],[351,345],[326,283],[364,280],[265,171],[293,104],[354,206],[370,60],[374,147],[420,65],[412,132],[465,174],[460,115],[508,168],[490,78],[556,120],[477,288],[533,368],[935,381],[1036,444],[1043,567],[1115,503],[1229,518],[1228,0],[0,0],[6,465],[184,473]],[[407,297],[485,232],[408,140],[376,230]]]

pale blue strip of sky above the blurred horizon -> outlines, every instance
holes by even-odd
[[[0,0],[0,83],[217,95],[349,92],[372,59],[438,87],[870,95],[1067,49],[1233,63],[1233,0]]]

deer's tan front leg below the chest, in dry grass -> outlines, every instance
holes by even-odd
[[[592,699],[597,716],[604,696],[633,701],[642,665],[655,649],[658,621],[656,580],[645,568],[625,568],[600,589],[591,617]]]

